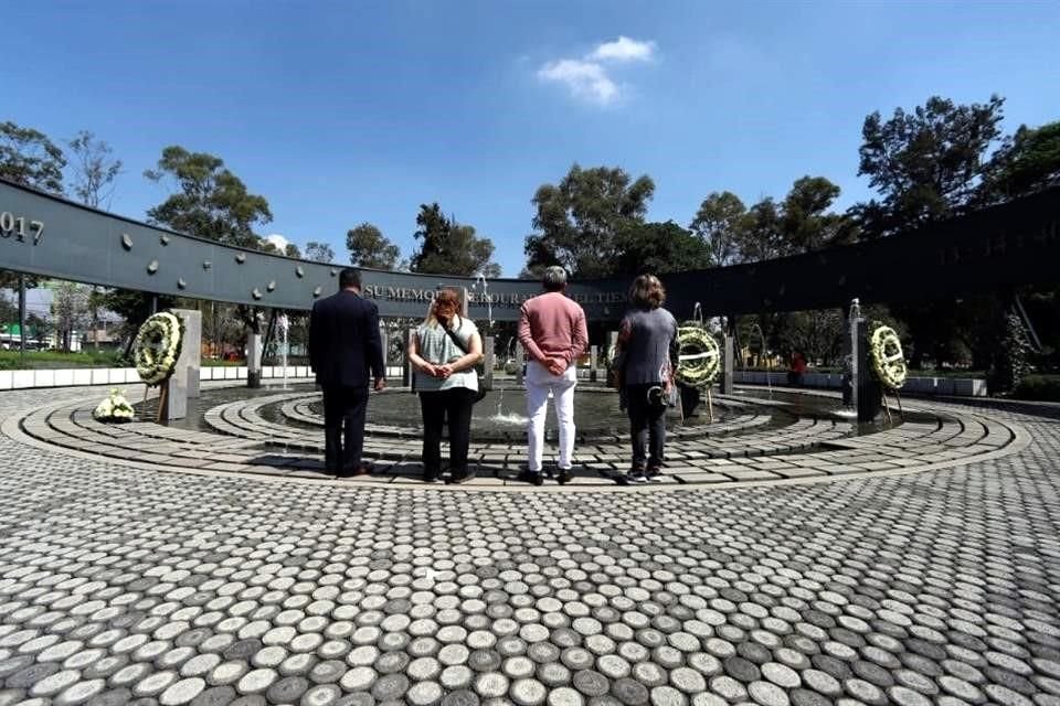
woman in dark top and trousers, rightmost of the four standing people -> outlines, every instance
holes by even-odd
[[[618,387],[629,415],[633,464],[619,483],[658,480],[666,443],[666,407],[677,365],[677,320],[662,308],[666,290],[654,275],[629,288],[633,308],[618,329]]]

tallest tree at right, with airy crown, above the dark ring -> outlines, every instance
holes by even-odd
[[[867,175],[881,201],[852,214],[870,236],[890,235],[954,215],[975,193],[985,156],[1000,136],[1004,98],[955,105],[933,96],[912,113],[879,111],[861,128],[858,175]]]

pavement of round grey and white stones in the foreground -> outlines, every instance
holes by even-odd
[[[0,437],[0,706],[1060,704],[1060,415],[1016,409],[985,413],[1032,438],[1000,458],[658,493],[157,473]]]

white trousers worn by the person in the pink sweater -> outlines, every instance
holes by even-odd
[[[574,456],[574,386],[577,385],[577,367],[571,365],[562,375],[553,375],[537,361],[527,363],[527,416],[530,418],[527,436],[530,446],[527,468],[541,470],[544,452],[544,418],[549,410],[549,393],[555,404],[555,418],[560,425],[559,467],[571,468]]]

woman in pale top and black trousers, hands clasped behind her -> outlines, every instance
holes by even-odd
[[[423,416],[423,480],[427,483],[436,482],[442,474],[442,429],[446,424],[452,482],[463,483],[475,477],[468,468],[467,449],[479,385],[475,366],[483,360],[483,339],[475,322],[457,313],[459,309],[459,292],[439,289],[409,345]]]

